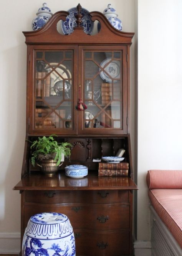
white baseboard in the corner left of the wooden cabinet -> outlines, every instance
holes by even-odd
[[[20,253],[20,233],[0,233],[0,254]]]

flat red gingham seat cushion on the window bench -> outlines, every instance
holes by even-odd
[[[148,191],[152,206],[182,248],[182,190]]]

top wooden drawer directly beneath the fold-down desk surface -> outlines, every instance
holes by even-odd
[[[28,203],[121,203],[128,202],[127,190],[61,191],[27,190],[25,201]]]

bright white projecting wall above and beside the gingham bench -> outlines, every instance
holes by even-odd
[[[147,170],[182,169],[181,10],[181,0],[138,0],[139,241],[150,240]]]

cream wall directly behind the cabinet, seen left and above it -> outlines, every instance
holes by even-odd
[[[20,249],[20,194],[12,188],[20,180],[25,141],[26,45],[22,31],[31,30],[31,21],[43,2],[0,1],[0,253],[18,253]],[[68,10],[78,3],[89,11],[103,12],[109,3],[106,0],[46,2],[53,13]],[[123,22],[123,31],[134,32],[134,2],[111,2]],[[131,135],[134,148],[134,43],[131,46],[131,59]]]

